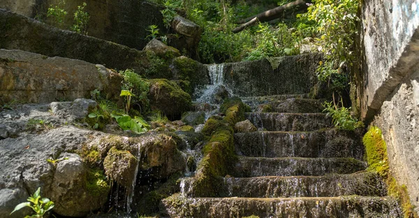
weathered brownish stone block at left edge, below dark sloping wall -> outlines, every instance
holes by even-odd
[[[3,101],[73,101],[89,97],[94,89],[115,99],[120,92],[111,83],[121,81],[119,74],[75,59],[0,50],[0,72],[0,99]]]

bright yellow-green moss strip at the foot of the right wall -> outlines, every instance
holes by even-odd
[[[383,177],[383,180],[385,180],[388,186],[388,194],[400,201],[405,218],[418,217],[413,210],[413,205],[411,205],[406,186],[397,184],[397,181],[390,173],[387,145],[385,144],[381,130],[376,126],[371,126],[369,131],[365,133],[362,141],[367,152],[369,170],[376,171],[378,175]]]

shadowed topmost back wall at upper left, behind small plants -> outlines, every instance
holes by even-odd
[[[43,22],[52,22],[47,17],[47,9],[59,4],[61,0],[6,0],[0,2],[0,8],[6,8],[27,17],[39,17]],[[87,32],[89,36],[112,41],[130,48],[142,49],[147,44],[150,25],[157,25],[161,33],[166,31],[163,25],[162,8],[142,0],[67,0],[62,6],[68,13],[63,28],[70,29],[73,25],[73,14],[83,2],[90,15]]]

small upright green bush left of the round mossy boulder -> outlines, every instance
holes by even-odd
[[[148,110],[149,100],[147,99],[147,94],[149,92],[149,82],[130,69],[119,71],[119,73],[124,78],[121,86],[121,96],[126,96],[127,99],[126,113],[129,112],[134,104],[142,108],[142,112]]]

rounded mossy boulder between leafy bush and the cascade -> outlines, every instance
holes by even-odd
[[[180,119],[191,108],[191,96],[175,82],[166,79],[149,80],[149,99],[152,110],[161,110],[169,119]]]

